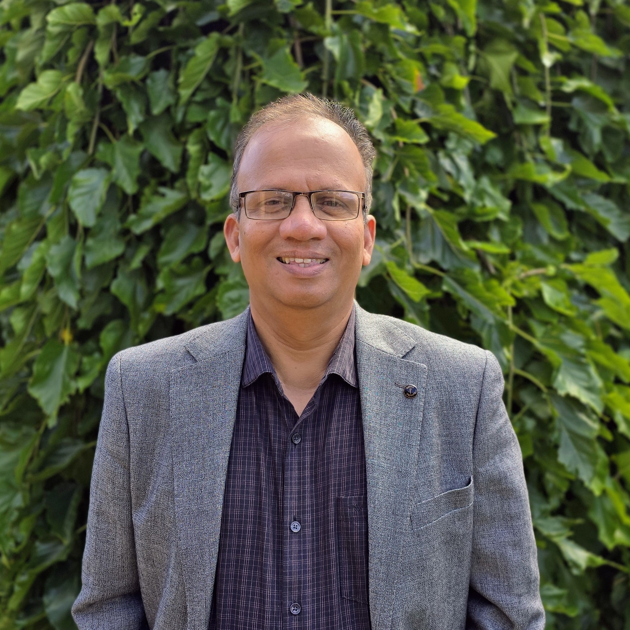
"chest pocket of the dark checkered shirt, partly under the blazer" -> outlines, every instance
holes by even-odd
[[[367,498],[337,498],[337,563],[343,599],[368,603]]]

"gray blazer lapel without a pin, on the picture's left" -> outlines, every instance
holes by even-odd
[[[188,630],[208,627],[248,311],[201,329],[196,362],[171,373],[175,518]]]

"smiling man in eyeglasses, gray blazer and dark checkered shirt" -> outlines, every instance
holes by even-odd
[[[374,148],[311,95],[236,145],[250,307],[112,359],[80,629],[542,629],[495,357],[369,314]]]

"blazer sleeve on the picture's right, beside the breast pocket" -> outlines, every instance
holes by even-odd
[[[491,352],[473,438],[473,553],[467,630],[542,630],[536,541],[517,437]]]

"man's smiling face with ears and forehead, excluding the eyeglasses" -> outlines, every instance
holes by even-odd
[[[238,190],[275,188],[365,192],[364,165],[350,136],[329,120],[265,125],[243,153]],[[241,205],[239,221],[230,215],[224,232],[232,260],[243,265],[253,304],[311,309],[352,301],[361,267],[372,255],[375,220],[370,216],[364,224],[360,212],[350,221],[323,221],[301,195],[286,219],[249,219]],[[312,262],[287,263],[289,258]]]

